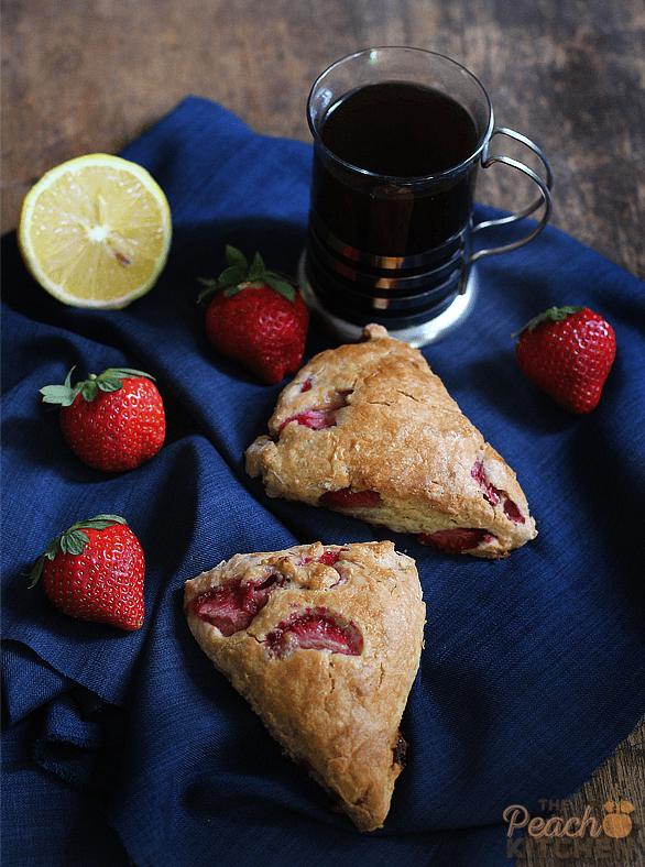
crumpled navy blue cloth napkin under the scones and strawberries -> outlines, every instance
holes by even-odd
[[[417,561],[426,644],[390,816],[359,834],[281,755],[182,612],[184,582],[238,551],[375,538],[358,520],[270,501],[245,475],[244,449],[281,386],[218,358],[196,303],[226,243],[295,272],[310,146],[187,98],[122,155],[153,174],[173,213],[170,261],[145,297],[121,311],[65,307],[30,278],[15,234],[2,239],[6,863],[510,864],[504,809],[573,793],[645,713],[645,286],[547,228],[483,260],[475,314],[424,350],[517,473],[539,535],[501,562],[392,537]],[[515,363],[511,333],[554,304],[584,304],[616,332],[587,417]],[[329,345],[313,328],[307,356]],[[39,388],[73,365],[156,377],[168,429],[152,461],[103,474],[69,452]],[[47,542],[100,512],[123,514],[145,551],[146,618],[133,634],[68,618],[28,589]]]

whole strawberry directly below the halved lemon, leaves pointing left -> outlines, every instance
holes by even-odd
[[[61,404],[61,429],[72,451],[88,467],[133,470],[153,458],[166,436],[163,400],[143,371],[108,367],[85,382],[41,388],[43,403]]]

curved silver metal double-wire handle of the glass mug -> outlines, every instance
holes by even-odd
[[[528,147],[533,153],[538,157],[540,163],[545,168],[546,180],[543,180],[539,175],[537,175],[533,169],[528,168],[528,166],[524,165],[524,163],[520,163],[517,160],[513,160],[510,156],[490,156],[488,155],[488,146],[493,139],[493,135],[507,135],[510,139],[515,139],[515,141],[521,142],[526,147]],[[504,165],[513,166],[513,168],[517,168],[520,172],[523,172],[527,175],[537,186],[539,187],[539,198],[536,199],[532,205],[525,208],[523,211],[517,211],[516,213],[511,213],[509,217],[502,217],[499,220],[484,220],[482,222],[477,223],[472,228],[472,234],[474,235],[477,232],[481,231],[482,229],[488,229],[491,226],[502,226],[504,223],[517,222],[517,220],[523,220],[525,217],[528,217],[531,213],[536,211],[542,205],[544,205],[544,213],[542,215],[542,219],[537,223],[536,228],[529,232],[529,234],[521,238],[518,241],[514,241],[511,244],[505,244],[504,246],[491,246],[487,248],[485,250],[478,250],[477,253],[473,253],[469,259],[469,264],[477,262],[478,259],[482,259],[483,256],[490,256],[493,253],[507,253],[510,250],[516,250],[518,246],[522,246],[527,241],[531,241],[532,238],[535,238],[538,232],[540,232],[548,219],[550,217],[553,202],[551,202],[551,187],[554,183],[554,176],[551,173],[551,168],[548,164],[546,156],[539,150],[539,147],[527,139],[526,135],[522,135],[514,130],[510,130],[507,127],[495,127],[491,133],[491,138],[489,139],[487,146],[481,155],[481,165],[482,168],[488,168],[489,166],[493,165],[494,163],[504,163]]]

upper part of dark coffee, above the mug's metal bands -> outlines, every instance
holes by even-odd
[[[386,81],[353,90],[331,107],[320,138],[374,179],[329,172],[314,160],[313,207],[345,243],[381,256],[426,253],[463,229],[471,172],[428,188],[412,178],[446,172],[477,150],[477,131],[458,102],[422,85]],[[403,179],[403,182],[402,182]]]

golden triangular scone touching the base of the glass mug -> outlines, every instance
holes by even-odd
[[[505,557],[536,535],[515,473],[422,353],[368,326],[320,352],[247,450],[266,493],[327,506],[444,551]]]

